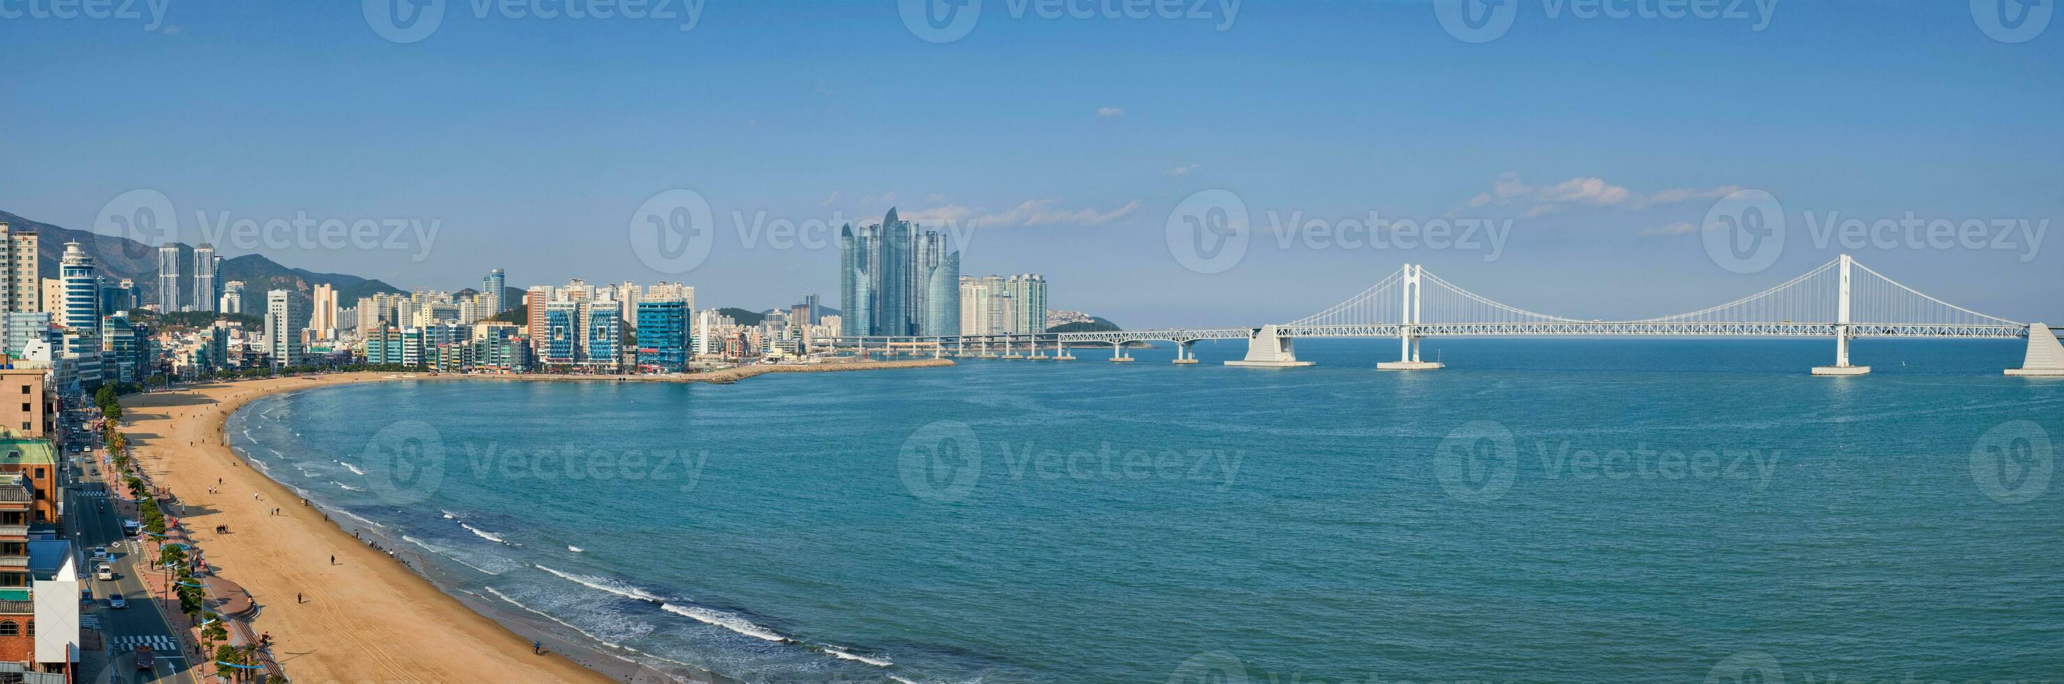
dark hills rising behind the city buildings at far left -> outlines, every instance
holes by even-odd
[[[37,233],[35,266],[45,280],[58,278],[64,243],[78,243],[93,258],[103,278],[130,278],[136,282],[138,301],[157,301],[157,247],[126,237],[54,227],[10,212],[0,212],[0,223],[6,223],[14,233]],[[347,307],[359,301],[359,297],[372,297],[374,293],[405,293],[380,280],[289,268],[258,253],[225,258],[221,282],[229,280],[244,280],[246,311],[250,311],[252,301],[264,307],[266,290],[299,290],[308,295],[318,284],[334,288],[338,303]]]

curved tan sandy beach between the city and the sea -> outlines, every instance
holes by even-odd
[[[760,373],[935,367],[952,361],[768,367],[698,373],[694,381],[737,381]],[[782,369],[782,371],[776,371]],[[788,371],[793,369],[793,371]],[[336,373],[126,396],[122,431],[138,464],[188,507],[186,527],[217,571],[262,606],[252,622],[270,632],[272,653],[297,682],[609,682],[630,670],[599,670],[530,653],[530,639],[469,610],[421,575],[367,548],[322,511],[264,474],[241,466],[223,443],[223,422],[246,402],[275,394],[396,373]],[[594,375],[415,375],[413,379],[611,381]],[[683,379],[675,379],[683,381]],[[221,484],[217,484],[221,482]],[[208,488],[217,486],[219,494]],[[258,494],[254,501],[252,494]],[[270,515],[281,509],[281,515]],[[231,534],[213,529],[227,525]],[[330,558],[336,558],[334,565]],[[295,604],[295,593],[308,597]]]

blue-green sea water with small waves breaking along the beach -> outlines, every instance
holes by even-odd
[[[2064,381],[2002,377],[2021,342],[1243,350],[394,381],[229,435],[448,591],[739,680],[2064,676]]]

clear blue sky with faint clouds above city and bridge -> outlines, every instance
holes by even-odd
[[[2064,225],[2064,27],[2002,43],[1967,2],[1779,2],[1756,31],[1517,0],[1488,43],[1449,35],[1426,2],[1249,0],[1230,21],[1218,4],[1207,19],[1013,8],[989,0],[949,43],[914,35],[894,2],[712,0],[683,31],[452,0],[413,43],[376,33],[359,2],[0,19],[0,208],[91,229],[109,200],[155,190],[184,241],[219,216],[438,220],[421,260],[225,251],[400,286],[475,286],[489,268],[512,284],[665,278],[757,309],[836,301],[836,247],[739,235],[733,212],[898,206],[960,220],[964,272],[1040,272],[1053,307],[1127,328],[1286,321],[1406,262],[1527,309],[1659,315],[1845,251],[1808,216]],[[654,272],[627,237],[669,190],[704,196],[716,223],[685,274]],[[1168,247],[1170,212],[1203,190],[1251,216],[1224,272]],[[1773,194],[1789,227],[1752,274],[1701,241],[1734,190]],[[1492,258],[1282,247],[1269,212],[1511,223]],[[2064,239],[1847,251],[1977,311],[2064,321]]]

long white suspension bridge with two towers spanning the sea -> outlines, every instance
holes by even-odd
[[[1059,334],[999,334],[947,338],[830,338],[830,348],[879,348],[883,352],[978,354],[982,358],[1073,358],[1071,346],[1110,344],[1110,361],[1131,361],[1129,344],[1174,342],[1179,365],[1193,365],[1191,344],[1201,340],[1247,340],[1247,356],[1232,367],[1309,367],[1296,358],[1300,338],[1397,338],[1399,358],[1377,363],[1385,371],[1441,369],[1420,358],[1422,338],[1484,336],[1746,336],[1746,338],[1833,338],[1835,363],[1814,367],[1814,375],[1864,375],[1868,365],[1849,363],[1853,338],[1969,338],[2027,340],[2021,369],[2008,375],[2064,375],[2064,346],[2045,323],[2019,323],[1977,313],[1928,297],[1915,288],[1858,264],[1849,255],[1820,264],[1767,290],[1688,313],[1645,319],[1577,319],[1536,313],[1470,293],[1422,266],[1406,264],[1366,290],[1325,311],[1261,328],[1168,328]],[[1046,350],[1053,348],[1053,354]],[[1001,354],[997,352],[1001,350]],[[1028,354],[1020,354],[1026,350]]]

